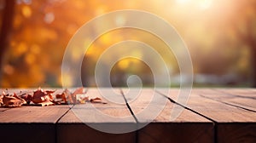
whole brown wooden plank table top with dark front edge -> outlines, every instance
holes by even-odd
[[[256,142],[256,89],[193,89],[189,99],[178,96],[179,89],[114,91],[116,94],[104,89],[101,94],[97,89],[87,89],[87,95],[100,97],[107,104],[1,107],[0,139],[9,142]],[[109,95],[111,98],[106,99]],[[181,112],[173,112],[174,108]],[[109,134],[93,129],[102,126],[113,133],[135,130]]]

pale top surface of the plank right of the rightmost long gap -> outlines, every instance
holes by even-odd
[[[176,90],[176,93],[178,93],[178,89]],[[211,89],[193,89],[187,105],[184,106],[188,106],[190,109],[206,115],[219,123],[256,121],[256,116],[253,112],[203,97],[212,94],[218,94],[218,92]],[[168,94],[168,96],[172,99],[177,99],[177,94]]]

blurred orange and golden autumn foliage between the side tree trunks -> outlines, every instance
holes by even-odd
[[[252,5],[246,6],[243,11],[238,10],[243,4],[240,1],[237,3],[241,4],[231,0],[224,3],[220,0],[114,0],[112,2],[18,0],[16,2],[9,48],[3,57],[2,87],[61,86],[62,56],[73,34],[92,18],[119,9],[146,10],[163,17],[175,26],[189,47],[195,73],[237,74],[248,78],[250,65],[248,57],[251,47],[241,39],[241,34],[250,34],[247,22],[248,20],[255,22],[256,14]],[[0,5],[3,6],[3,3]],[[124,17],[119,17],[116,22],[121,25],[124,20]],[[91,31],[97,31],[102,28],[101,26],[106,25],[108,21],[104,21]],[[252,31],[252,35],[255,36],[255,28]],[[88,44],[89,38],[84,37],[84,43]],[[88,78],[94,76],[94,66],[100,54],[114,43],[124,40],[148,43],[164,57],[172,74],[178,74],[179,68],[175,56],[159,38],[145,31],[122,29],[109,31],[90,45],[84,55],[87,58],[86,70],[90,71],[86,73]],[[73,60],[78,60],[77,55],[82,49],[73,52]],[[119,50],[122,49],[119,48],[116,53]],[[144,52],[135,51],[134,54],[143,57]],[[109,60],[111,58],[113,57],[108,57]],[[108,64],[108,61],[106,63]],[[117,63],[117,68],[125,72],[129,70],[141,74],[148,72],[146,68],[131,67],[136,64],[142,63],[125,59]],[[73,82],[72,77],[68,75],[62,80]]]

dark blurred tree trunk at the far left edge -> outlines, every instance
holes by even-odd
[[[9,33],[12,29],[15,14],[15,0],[5,0],[3,9],[3,19],[0,31],[0,85],[3,77],[3,59],[6,49],[9,46]]]

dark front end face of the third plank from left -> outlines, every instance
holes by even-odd
[[[213,142],[210,123],[150,123],[138,131],[138,142]]]

